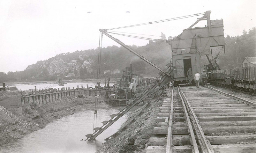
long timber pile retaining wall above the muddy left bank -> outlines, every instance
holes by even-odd
[[[105,88],[58,88],[39,91],[0,91],[0,105],[12,113],[22,115],[22,105],[36,103],[43,105],[64,98],[106,95]],[[108,92],[109,94],[111,92]]]

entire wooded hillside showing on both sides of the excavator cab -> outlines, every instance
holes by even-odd
[[[225,55],[217,60],[222,69],[242,65],[245,57],[255,57],[256,28],[253,27],[242,36],[225,37]],[[146,46],[130,46],[149,61],[165,69],[170,61],[171,47],[165,42],[149,40]],[[24,71],[0,72],[0,82],[56,80],[74,73],[76,78],[95,78],[97,74],[98,48],[84,51],[67,52],[56,55],[45,61],[28,66]],[[159,71],[130,53],[124,47],[111,46],[102,49],[101,76],[104,70],[121,71],[132,63],[133,72],[138,75],[156,74]],[[201,66],[208,64],[205,56],[201,58]],[[118,75],[116,75],[118,76]]]

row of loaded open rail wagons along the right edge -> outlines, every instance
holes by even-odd
[[[207,73],[208,81],[212,84],[254,93],[256,91],[256,65],[234,69],[219,69]]]

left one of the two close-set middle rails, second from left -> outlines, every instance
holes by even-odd
[[[184,100],[183,100],[182,95],[180,93],[179,86],[178,86],[178,93],[179,93],[179,96],[180,96],[180,99],[181,99],[181,102],[182,102],[183,112],[185,114],[185,118],[186,118],[186,121],[187,121],[188,132],[190,134],[190,143],[192,143],[191,144],[192,152],[193,153],[199,153],[197,143],[196,143],[196,138],[195,138],[194,131],[193,131],[193,128],[192,128],[192,124],[190,122],[189,115],[188,115]]]

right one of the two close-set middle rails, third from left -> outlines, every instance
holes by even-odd
[[[183,95],[183,97],[186,101],[186,106],[188,108],[188,112],[190,113],[192,123],[193,123],[194,129],[196,131],[197,139],[198,139],[198,142],[200,144],[202,153],[214,153],[214,150],[213,150],[210,142],[206,139],[206,137],[204,135],[204,132],[203,132],[203,130],[202,130],[200,124],[199,124],[199,120],[197,119],[196,114],[193,111],[192,106],[190,105],[186,96],[184,95],[183,91],[181,90],[181,87],[178,86],[178,88],[179,88],[178,91],[180,91],[182,93],[182,95]]]

